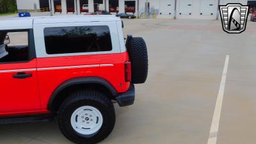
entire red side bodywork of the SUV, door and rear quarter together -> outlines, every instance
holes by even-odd
[[[130,86],[125,82],[124,63],[127,60],[129,56],[123,52],[1,64],[0,116],[49,113],[47,105],[54,90],[61,83],[77,77],[101,77],[111,83],[116,92],[127,92]],[[17,72],[26,72],[32,77],[14,79],[13,74]]]

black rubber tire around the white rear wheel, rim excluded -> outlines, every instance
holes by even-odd
[[[76,132],[71,125],[71,116],[81,106],[92,106],[99,109],[103,117],[103,123],[99,131],[90,135]],[[115,108],[111,100],[103,93],[84,90],[75,92],[68,97],[60,108],[59,127],[63,135],[70,141],[79,144],[99,143],[109,136],[115,126]]]

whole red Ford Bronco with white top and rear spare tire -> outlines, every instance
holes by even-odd
[[[147,47],[113,16],[0,20],[0,124],[52,120],[74,143],[98,143],[115,125],[113,102],[133,104]]]

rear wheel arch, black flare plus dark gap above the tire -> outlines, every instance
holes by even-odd
[[[106,79],[100,77],[79,77],[69,79],[64,83],[61,83],[58,88],[54,90],[49,99],[47,110],[53,113],[58,111],[61,103],[68,97],[71,91],[81,90],[83,88],[94,88],[101,92],[108,93],[109,99],[115,99],[117,92],[115,88]]]

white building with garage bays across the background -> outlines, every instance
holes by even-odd
[[[55,15],[84,14],[97,10],[115,13],[156,14],[159,18],[216,19],[218,4],[241,3],[256,7],[247,0],[17,0],[18,10],[51,8]]]

